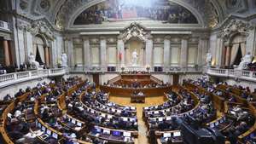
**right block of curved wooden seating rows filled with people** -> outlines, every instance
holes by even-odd
[[[182,123],[191,125],[191,118],[202,128],[218,130],[230,143],[255,141],[256,95],[244,89],[199,78],[172,86],[165,96],[164,104],[143,108],[151,143],[183,142]]]

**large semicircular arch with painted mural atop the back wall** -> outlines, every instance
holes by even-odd
[[[108,10],[102,9],[103,7],[105,7],[105,6],[102,6],[104,5],[104,3],[107,3],[108,6],[113,5],[108,3],[108,0],[95,0],[90,3],[81,5],[81,7],[79,7],[79,9],[76,9],[72,14],[72,16],[70,16],[70,19],[67,20],[67,27],[72,27],[74,25],[102,24],[102,21],[104,20],[108,22],[115,22],[115,21],[119,21],[119,18],[121,18],[121,21],[123,21],[124,15],[126,15],[125,17],[127,17],[127,14],[122,14],[122,15],[119,14],[119,10],[117,10],[118,7],[116,9],[112,9],[112,10],[110,9],[111,12],[116,11],[116,14],[109,13]],[[131,16],[131,14],[128,14],[129,18],[126,20],[132,21],[134,20],[134,18],[136,20],[141,20],[146,18],[149,20],[160,20],[160,21],[163,21],[163,23],[199,24],[201,26],[205,26],[204,20],[202,19],[201,14],[191,5],[189,5],[189,3],[183,3],[180,1],[174,1],[174,0],[165,0],[165,3],[167,4],[164,4],[163,6],[168,8],[170,7],[171,9],[166,10],[166,8],[164,8],[164,11],[167,11],[167,13],[163,11],[159,15],[166,15],[166,19],[161,18],[161,16],[148,17],[147,15],[142,15],[142,14],[149,14],[149,12],[138,13],[137,10],[135,10],[136,13],[132,13],[133,17]],[[154,7],[160,8],[157,5],[156,6],[154,5]],[[177,8],[176,13],[172,13],[173,10],[175,11],[174,7]],[[139,9],[139,11],[141,10],[142,9]],[[93,16],[89,16],[92,12],[95,14],[92,14]],[[180,20],[174,19],[175,14],[177,18]],[[101,19],[96,20],[95,15],[99,15]],[[134,17],[134,15],[136,15],[136,17]],[[172,16],[170,17],[170,15]],[[84,17],[84,16],[86,17],[86,19],[84,19],[86,20],[85,22],[83,22],[83,20],[82,21],[78,20],[79,17]],[[183,16],[187,17],[188,19],[181,19],[183,18]],[[173,20],[171,18],[173,18]]]

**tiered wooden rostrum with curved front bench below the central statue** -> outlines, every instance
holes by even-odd
[[[160,87],[154,86],[157,84]],[[110,79],[108,85],[100,85],[100,89],[118,96],[131,97],[135,91],[143,92],[146,96],[160,96],[172,89],[171,86],[162,84],[160,79],[154,78],[150,73],[121,73],[118,77]]]

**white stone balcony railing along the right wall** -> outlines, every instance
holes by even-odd
[[[211,76],[237,78],[256,82],[256,72],[234,69],[208,68],[207,74]]]

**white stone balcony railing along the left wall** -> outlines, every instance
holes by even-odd
[[[61,76],[61,75],[64,75],[65,73],[66,73],[66,69],[58,68],[58,69],[44,69],[44,70],[3,74],[3,75],[0,75],[0,88],[9,86],[11,84],[16,84],[16,83],[36,79],[36,78]]]

